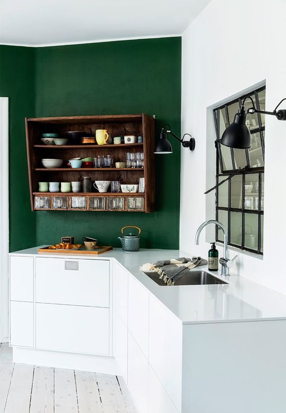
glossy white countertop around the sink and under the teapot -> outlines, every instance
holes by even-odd
[[[39,247],[11,252],[10,255],[64,257],[75,259],[116,259],[144,287],[157,297],[183,324],[222,323],[286,319],[286,296],[269,290],[247,278],[230,275],[228,284],[161,286],[142,273],[139,267],[147,262],[192,257],[173,249],[141,249],[124,252],[115,248],[98,256],[39,253]],[[221,266],[220,266],[221,267]],[[207,270],[207,266],[195,270]],[[220,268],[221,269],[221,268]],[[192,270],[191,270],[192,271]],[[273,269],[273,271],[275,271]],[[216,276],[220,274],[215,273]],[[271,275],[270,275],[271,276]]]

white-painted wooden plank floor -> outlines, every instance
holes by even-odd
[[[12,362],[0,344],[0,413],[137,413],[120,376]]]

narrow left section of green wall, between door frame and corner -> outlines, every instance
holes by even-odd
[[[0,46],[0,96],[9,98],[10,250],[35,245],[25,140],[26,116],[34,116],[34,49]]]

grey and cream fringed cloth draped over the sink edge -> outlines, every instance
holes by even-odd
[[[207,261],[201,257],[191,258],[173,258],[171,260],[157,261],[154,264],[146,263],[140,267],[141,271],[155,271],[159,274],[160,279],[168,285],[174,285],[174,282],[186,274],[190,269],[199,265],[206,265]]]

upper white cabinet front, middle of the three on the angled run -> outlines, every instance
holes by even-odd
[[[148,358],[149,293],[131,275],[128,277],[128,330]]]

